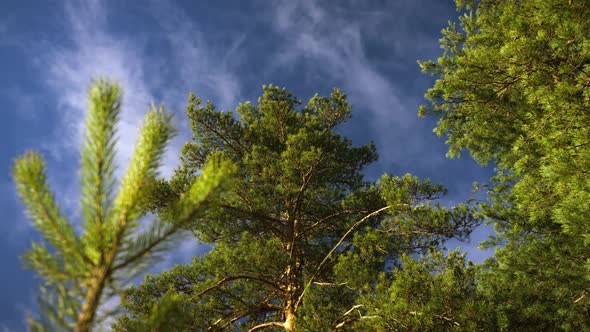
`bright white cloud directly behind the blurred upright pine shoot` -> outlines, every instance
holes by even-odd
[[[58,155],[64,149],[77,152],[81,145],[89,84],[108,75],[124,87],[116,160],[121,166],[133,152],[138,127],[153,97],[146,83],[140,45],[107,33],[107,9],[103,5],[99,1],[67,3],[66,29],[71,44],[50,49],[41,63],[47,70],[46,82],[59,101],[60,137],[52,142],[52,151]]]

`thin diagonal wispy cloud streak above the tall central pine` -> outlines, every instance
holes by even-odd
[[[390,78],[367,58],[363,29],[367,20],[347,20],[332,15],[321,2],[305,0],[275,4],[272,26],[284,36],[285,47],[277,56],[276,68],[305,61],[335,84],[342,85],[353,105],[369,112],[379,145],[389,143],[392,130],[403,131],[416,122]],[[386,160],[399,157],[394,149],[384,151]]]

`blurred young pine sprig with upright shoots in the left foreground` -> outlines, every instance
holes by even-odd
[[[40,317],[30,319],[33,331],[90,330],[99,319],[100,304],[119,294],[149,266],[154,254],[165,248],[162,245],[219,186],[224,171],[231,169],[227,161],[212,161],[174,211],[163,211],[162,218],[140,225],[166,142],[173,135],[172,118],[162,108],[147,113],[115,194],[113,160],[120,106],[118,85],[104,80],[92,84],[81,149],[81,232],[68,221],[50,191],[42,157],[27,152],[14,163],[18,193],[42,235],[42,241],[33,243],[23,257],[26,266],[43,280]]]

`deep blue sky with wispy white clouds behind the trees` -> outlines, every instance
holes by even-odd
[[[446,159],[444,139],[432,133],[435,119],[416,116],[432,84],[416,61],[441,54],[440,30],[456,17],[451,0],[1,1],[0,330],[24,329],[35,292],[18,258],[35,232],[15,195],[12,161],[27,149],[43,153],[57,199],[76,220],[85,94],[96,77],[125,89],[119,169],[151,102],[177,113],[180,135],[162,168],[170,174],[189,137],[190,91],[228,109],[255,100],[262,84],[303,99],[339,87],[353,105],[342,132],[357,144],[377,144],[380,160],[369,177],[411,172],[445,184],[448,202],[467,199],[472,182],[485,181],[491,169],[468,156]],[[461,244],[470,258],[489,255],[476,249],[486,231]],[[187,241],[169,262],[198,252]]]

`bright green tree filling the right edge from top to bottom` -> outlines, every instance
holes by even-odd
[[[506,330],[590,328],[590,3],[457,1],[421,114],[449,154],[498,174],[482,215],[500,245],[481,290]]]

